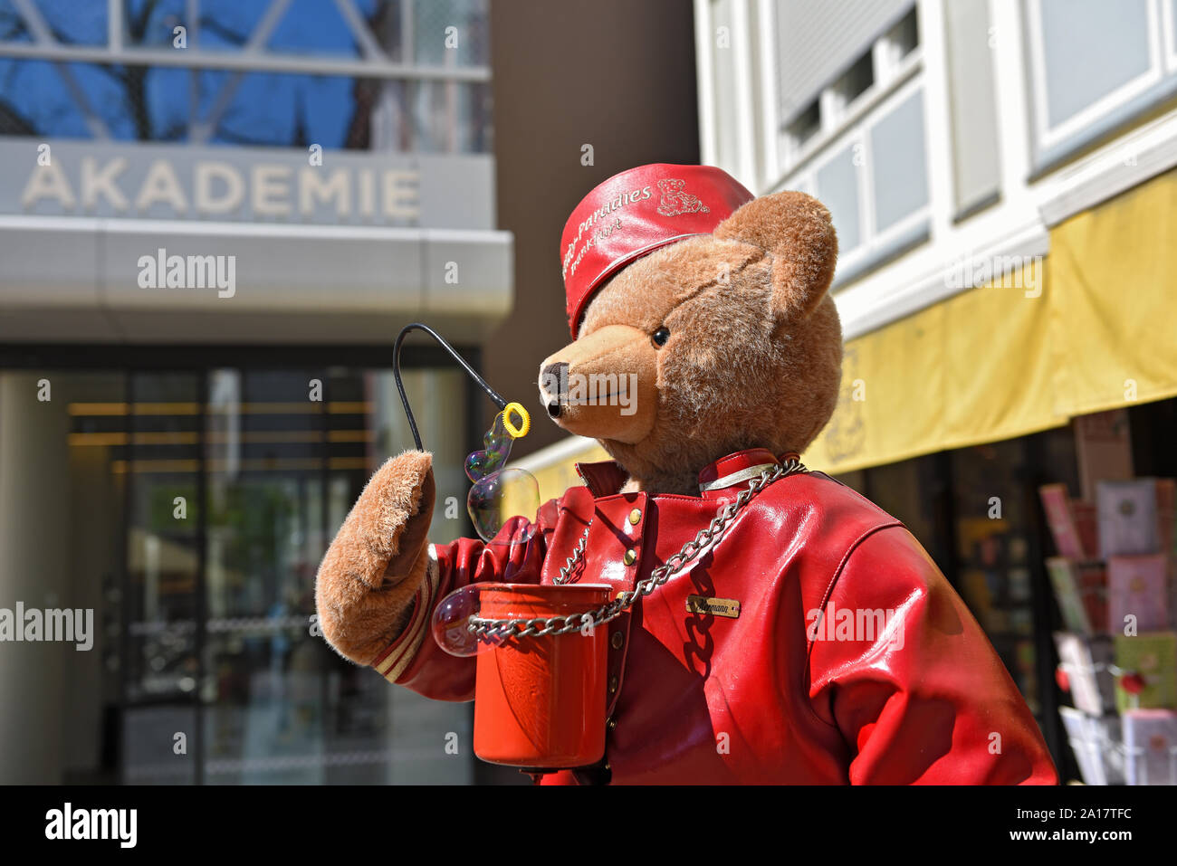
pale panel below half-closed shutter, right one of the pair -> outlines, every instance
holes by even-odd
[[[916,91],[875,124],[870,140],[875,228],[885,232],[927,204],[923,92]]]

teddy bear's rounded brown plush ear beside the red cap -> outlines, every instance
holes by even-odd
[[[716,238],[754,244],[772,254],[772,307],[804,318],[825,297],[838,261],[838,238],[825,205],[798,192],[753,199],[720,222]]]

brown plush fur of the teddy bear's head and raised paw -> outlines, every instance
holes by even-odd
[[[637,375],[619,405],[561,406],[557,424],[600,440],[631,489],[698,494],[698,472],[734,451],[800,452],[833,412],[842,327],[827,297],[838,244],[816,199],[747,202],[713,235],[689,238],[623,268],[593,297],[578,339],[540,366]],[[666,327],[663,346],[653,333]],[[324,635],[371,661],[405,627],[427,565],[431,457],[405,452],[368,482],[319,568]]]

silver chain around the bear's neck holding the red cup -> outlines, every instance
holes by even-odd
[[[747,488],[740,491],[733,502],[729,502],[719,508],[710,525],[699,529],[699,533],[683,545],[678,553],[673,553],[667,557],[666,561],[654,568],[650,573],[649,578],[639,581],[632,592],[619,593],[616,599],[606,605],[603,605],[601,607],[598,607],[596,611],[590,611],[587,613],[570,613],[563,617],[552,617],[550,619],[484,619],[481,617],[471,617],[468,628],[479,638],[491,638],[498,642],[512,637],[523,638],[534,635],[537,638],[543,638],[548,634],[567,634],[568,632],[592,629],[599,625],[604,625],[605,622],[620,617],[639,598],[649,595],[670,580],[677,572],[681,571],[684,566],[699,555],[699,551],[701,551],[712,538],[722,533],[727,527],[740,509],[749,504],[752,497],[759,493],[764,487],[767,487],[770,484],[782,478],[796,475],[802,472],[809,472],[809,469],[806,469],[802,461],[796,458],[790,458],[783,464],[778,464],[773,468],[762,472],[757,478],[752,479],[752,482],[747,486]],[[587,541],[588,527],[586,526],[584,533],[580,535],[579,544],[572,552],[572,555],[565,560],[564,567],[560,568],[560,577],[556,582],[567,582],[568,573],[578,562],[580,562],[581,559],[584,559],[585,545]]]

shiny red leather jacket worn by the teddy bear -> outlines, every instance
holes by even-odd
[[[447,655],[428,628],[446,593],[550,584],[586,526],[578,580],[632,589],[773,462],[762,448],[726,457],[700,473],[700,497],[620,493],[617,464],[578,465],[586,486],[540,508],[530,545],[432,546],[412,620],[373,667],[471,700],[474,659]],[[605,758],[545,784],[1057,784],[1025,701],[929,555],[820,473],[765,487],[609,628]]]

